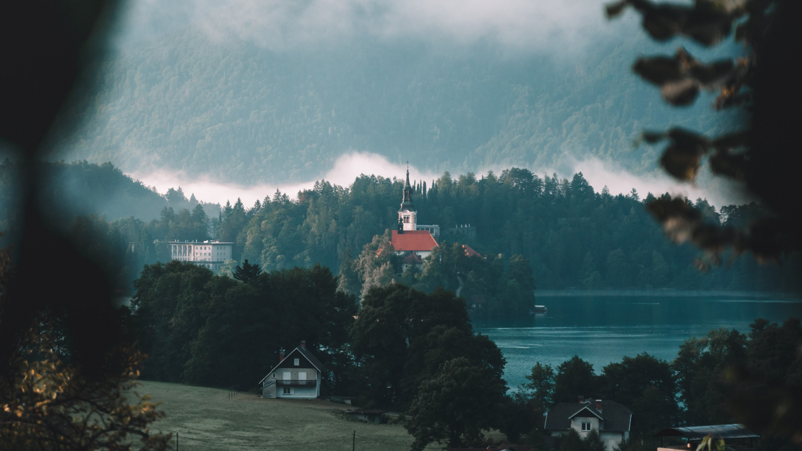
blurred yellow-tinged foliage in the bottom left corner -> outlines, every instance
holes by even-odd
[[[0,311],[12,275],[0,250]],[[83,376],[58,321],[42,312],[0,365],[0,449],[167,449],[170,435],[148,430],[163,413],[136,392],[144,355],[120,346],[106,372]]]

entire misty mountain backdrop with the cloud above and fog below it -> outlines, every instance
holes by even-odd
[[[201,198],[225,202],[221,187],[231,201],[263,187],[255,200],[367,155],[395,165],[363,171],[385,177],[407,160],[435,177],[517,166],[583,171],[614,193],[747,200],[705,174],[699,187],[670,182],[661,148],[632,144],[643,129],[714,136],[742,119],[712,112],[711,94],[670,108],[630,71],[634,58],[738,50],[654,43],[635,14],[611,24],[597,2],[132,2],[117,28],[96,91],[66,112],[81,126],[57,130],[50,156],[111,161],[161,193],[194,184],[188,193],[206,186]],[[631,185],[615,189],[622,179]]]

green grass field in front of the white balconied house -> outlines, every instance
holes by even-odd
[[[401,425],[348,421],[336,415],[334,409],[342,411],[350,406],[327,400],[263,399],[244,392],[227,399],[225,389],[150,381],[142,382],[136,391],[162,403],[160,409],[167,416],[156,422],[152,430],[163,433],[178,431],[180,451],[346,451],[351,449],[354,431],[357,451],[401,451],[409,449],[412,443],[412,437]],[[439,448],[436,445],[430,447]]]

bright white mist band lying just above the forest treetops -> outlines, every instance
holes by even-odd
[[[554,173],[549,169],[529,168],[534,173],[541,177],[545,174]],[[406,165],[399,165],[391,163],[385,156],[376,153],[368,152],[353,152],[340,156],[334,163],[334,167],[330,169],[324,177],[324,180],[332,184],[349,186],[354,182],[354,179],[360,174],[374,174],[382,177],[404,177],[406,173]],[[431,180],[439,178],[441,174],[429,173],[410,165],[410,179],[424,180],[431,183]],[[485,171],[478,171],[484,173]],[[616,169],[601,160],[581,160],[573,165],[573,171],[570,173],[557,172],[558,177],[569,178],[573,177],[574,173],[581,172],[588,180],[589,184],[593,186],[597,192],[601,192],[602,188],[606,185],[610,189],[610,193],[629,193],[631,189],[637,189],[641,197],[645,197],[646,193],[651,192],[671,193],[672,195],[683,195],[691,199],[697,197],[707,198],[711,204],[720,207],[721,205],[729,205],[733,203],[743,203],[749,201],[749,197],[742,193],[735,185],[711,185],[708,187],[700,187],[688,184],[678,183],[665,175],[648,175],[648,176],[635,176],[622,169]],[[132,177],[142,181],[145,185],[155,186],[160,193],[166,193],[167,189],[179,186],[184,190],[187,196],[195,194],[199,201],[220,203],[225,205],[226,201],[234,202],[237,198],[245,203],[246,206],[253,205],[257,200],[261,201],[265,196],[273,196],[276,189],[281,190],[282,193],[287,193],[290,197],[294,198],[298,191],[302,189],[310,189],[315,181],[307,181],[299,184],[281,185],[281,184],[264,184],[253,186],[241,186],[223,183],[221,181],[214,181],[212,177],[201,176],[197,177],[192,175],[189,177],[183,173],[172,172],[157,172],[157,173],[132,173]],[[452,173],[453,177],[458,174]]]

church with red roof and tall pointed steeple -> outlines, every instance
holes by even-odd
[[[418,224],[418,211],[412,204],[412,187],[409,184],[409,169],[407,169],[407,183],[403,188],[398,227],[392,232],[395,254],[403,257],[402,270],[411,265],[419,268],[423,265],[423,258],[431,254],[431,250],[437,246],[435,237],[439,235],[439,230],[439,225]]]

